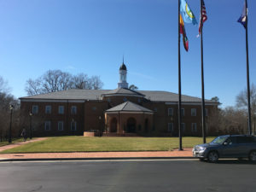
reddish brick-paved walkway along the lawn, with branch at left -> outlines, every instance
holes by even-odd
[[[22,144],[42,141],[37,138],[24,143],[14,143],[0,147],[0,151],[15,148]],[[192,158],[192,148],[173,151],[143,151],[143,152],[75,152],[75,153],[30,153],[30,154],[0,154],[0,160],[74,160],[74,159],[129,159],[129,158]]]

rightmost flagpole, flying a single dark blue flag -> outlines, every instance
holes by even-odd
[[[248,33],[247,33],[247,24],[248,24],[248,15],[247,15],[247,0],[246,3],[246,48],[247,48],[247,103],[248,103],[248,132],[249,135],[252,135],[252,124],[251,124],[251,91],[250,91],[250,78],[249,78],[249,56],[248,56]]]

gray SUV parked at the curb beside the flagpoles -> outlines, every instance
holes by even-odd
[[[211,143],[195,145],[193,156],[201,160],[217,162],[218,158],[248,158],[256,161],[256,137],[227,135],[213,139]]]

